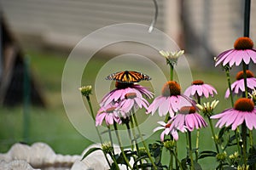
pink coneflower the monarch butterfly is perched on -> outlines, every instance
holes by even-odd
[[[145,95],[148,99],[153,98],[153,93],[148,91],[147,88],[140,86],[134,83],[126,82],[115,82],[115,89],[106,94],[102,98],[101,106],[109,105],[110,103],[119,102],[122,99],[125,99],[125,94],[136,93]]]

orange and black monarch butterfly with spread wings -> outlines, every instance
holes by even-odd
[[[114,80],[117,82],[140,82],[142,80],[151,80],[151,77],[137,71],[119,71],[106,77],[106,80]]]

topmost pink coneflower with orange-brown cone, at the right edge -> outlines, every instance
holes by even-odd
[[[216,57],[215,66],[222,65],[240,65],[242,61],[249,64],[250,60],[256,63],[256,50],[253,49],[253,41],[249,37],[239,37],[234,43],[234,48],[224,51]]]

